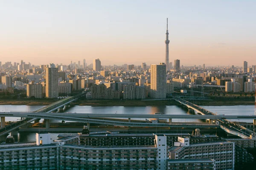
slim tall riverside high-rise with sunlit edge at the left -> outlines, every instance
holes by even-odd
[[[49,64],[45,68],[46,74],[46,97],[54,98],[58,97],[58,68],[54,64]]]

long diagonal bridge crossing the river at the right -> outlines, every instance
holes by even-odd
[[[177,101],[180,104],[186,106],[187,108],[193,109],[194,111],[200,113],[201,115],[215,116],[215,119],[214,118],[210,119],[209,123],[212,124],[213,120],[215,120],[215,122],[218,121],[221,129],[223,129],[227,133],[231,133],[233,135],[240,136],[241,138],[244,138],[244,139],[249,138],[252,133],[255,133],[252,130],[249,130],[249,129],[247,129],[247,128],[239,125],[239,124],[236,124],[235,122],[229,122],[229,121],[225,120],[224,117],[228,117],[228,116],[222,115],[223,119],[220,119],[221,118],[220,115],[218,116],[217,114],[212,113],[212,112],[210,112],[210,111],[208,111],[208,110],[206,110],[206,109],[204,109],[204,108],[202,108],[198,105],[195,105],[191,102],[188,102],[184,99],[175,98],[175,101]],[[248,119],[253,119],[253,125],[256,125],[256,119],[253,115],[248,116]]]

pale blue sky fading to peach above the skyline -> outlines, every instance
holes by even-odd
[[[0,61],[256,65],[256,0],[0,0]]]

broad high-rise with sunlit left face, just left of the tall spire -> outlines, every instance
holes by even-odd
[[[166,65],[165,63],[150,65],[150,94],[154,99],[166,98]]]

